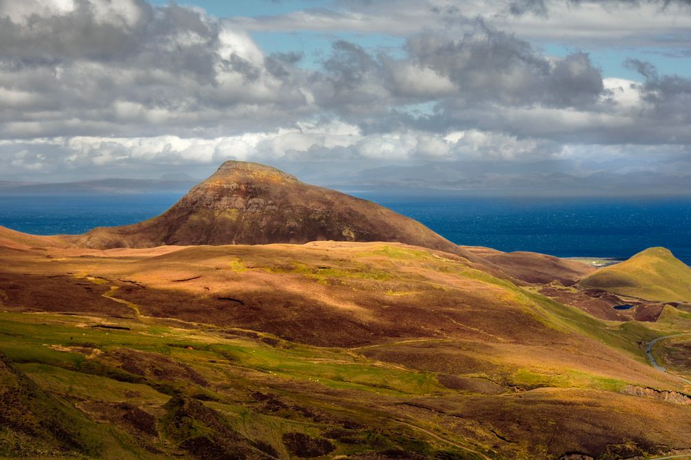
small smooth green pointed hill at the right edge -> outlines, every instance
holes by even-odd
[[[588,289],[661,302],[691,302],[691,268],[670,250],[649,248],[580,281]]]

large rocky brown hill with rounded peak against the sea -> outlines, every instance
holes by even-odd
[[[223,163],[159,217],[131,226],[97,228],[76,243],[108,249],[319,240],[399,241],[465,254],[422,223],[371,201],[242,161]]]

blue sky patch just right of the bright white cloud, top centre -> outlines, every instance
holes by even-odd
[[[321,67],[331,54],[332,44],[345,40],[364,48],[376,56],[379,53],[401,59],[405,57],[405,39],[388,34],[357,34],[353,32],[323,33],[301,30],[296,32],[254,31],[250,35],[266,54],[299,52],[303,54],[300,66],[307,69]]]

